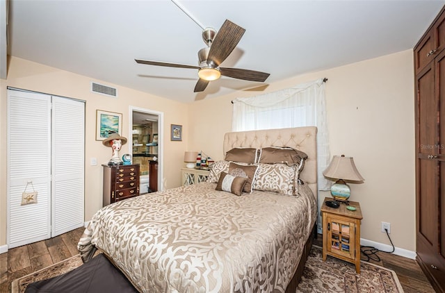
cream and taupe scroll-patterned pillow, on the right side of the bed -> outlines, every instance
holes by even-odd
[[[258,164],[254,190],[277,192],[279,194],[298,194],[298,169],[296,165]]]

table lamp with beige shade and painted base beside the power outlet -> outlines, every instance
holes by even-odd
[[[329,166],[323,171],[327,178],[334,179],[336,182],[331,187],[332,197],[336,201],[348,201],[350,188],[345,181],[364,181],[354,164],[353,157],[334,156]],[[360,183],[360,182],[356,182]]]

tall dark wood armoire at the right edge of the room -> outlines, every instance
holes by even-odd
[[[414,47],[416,260],[445,292],[445,12]]]

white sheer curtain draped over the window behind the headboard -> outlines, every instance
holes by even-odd
[[[232,131],[317,126],[318,189],[330,189],[322,174],[330,158],[323,78],[233,103]]]

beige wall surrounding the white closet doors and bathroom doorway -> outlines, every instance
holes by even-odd
[[[188,143],[188,114],[184,111],[186,104],[155,97],[144,92],[138,92],[119,85],[107,85],[118,88],[118,98],[106,97],[90,92],[90,82],[97,81],[87,76],[40,65],[19,58],[10,58],[8,79],[0,79],[1,97],[1,140],[6,142],[6,87],[17,87],[24,90],[44,92],[62,97],[70,97],[86,101],[86,150],[85,150],[85,219],[102,207],[102,166],[111,158],[111,149],[95,140],[96,110],[106,110],[122,113],[122,135],[129,136],[129,106],[146,108],[163,112],[164,114],[164,174],[163,187],[181,185],[180,168],[184,167],[184,151]],[[170,124],[184,126],[183,141],[170,141]],[[160,137],[161,138],[161,137]],[[122,151],[127,152],[127,145]],[[6,244],[6,144],[0,147],[0,246]],[[97,166],[90,165],[90,158],[97,158]]]

